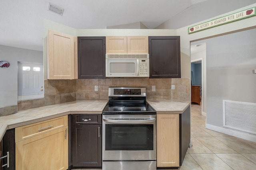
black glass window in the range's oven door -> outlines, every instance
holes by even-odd
[[[106,125],[106,150],[153,150],[153,125]]]

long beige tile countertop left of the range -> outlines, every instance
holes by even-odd
[[[0,117],[0,140],[7,129],[12,129],[63,115],[70,112],[101,114],[108,100],[77,100],[62,104],[37,107],[18,111],[18,113]]]

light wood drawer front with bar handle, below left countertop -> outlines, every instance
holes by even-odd
[[[30,125],[15,128],[15,142],[44,134],[68,125],[68,116],[40,121]]]

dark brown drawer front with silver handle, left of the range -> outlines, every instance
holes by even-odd
[[[101,124],[101,114],[74,114],[72,124]]]

